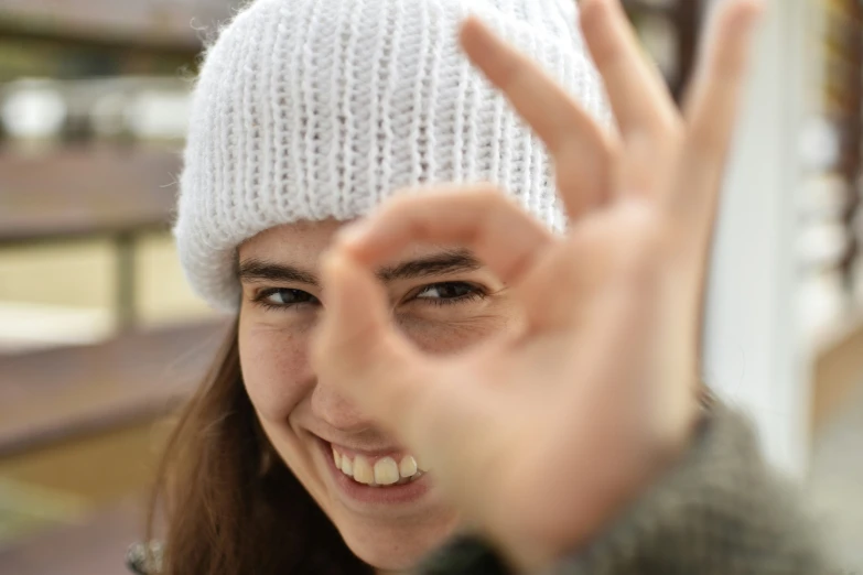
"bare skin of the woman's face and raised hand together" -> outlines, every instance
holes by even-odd
[[[284,226],[240,249],[241,265],[322,278],[279,286],[313,293],[324,314],[265,311],[260,282],[244,280],[244,376],[285,463],[381,568],[409,566],[457,523],[526,571],[548,566],[613,521],[692,435],[704,274],[758,3],[722,4],[682,113],[619,3],[580,7],[615,130],[478,21],[462,30],[467,56],[553,156],[567,235],[474,186],[397,196],[326,253],[333,223]],[[375,278],[441,246],[475,253],[495,295],[431,311],[408,295],[422,282]],[[309,433],[410,446],[430,464],[433,501],[357,513],[327,485]]]

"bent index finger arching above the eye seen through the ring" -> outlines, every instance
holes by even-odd
[[[339,237],[339,246],[368,267],[414,243],[460,245],[507,284],[518,283],[553,241],[542,224],[490,185],[396,197]]]

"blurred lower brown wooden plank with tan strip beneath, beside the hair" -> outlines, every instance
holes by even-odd
[[[129,332],[0,357],[0,479],[90,510],[142,496],[168,415],[198,386],[225,330],[219,322]]]

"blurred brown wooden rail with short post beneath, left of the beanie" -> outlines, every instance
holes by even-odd
[[[0,154],[0,248],[110,238],[116,315],[136,324],[136,239],[168,230],[177,153],[100,147]]]

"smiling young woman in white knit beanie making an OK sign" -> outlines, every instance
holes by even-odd
[[[580,10],[257,0],[222,32],[175,231],[237,321],[138,568],[826,573],[697,379],[757,6],[682,116],[618,2]]]

